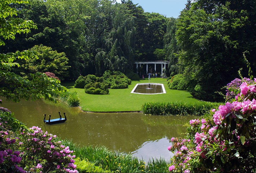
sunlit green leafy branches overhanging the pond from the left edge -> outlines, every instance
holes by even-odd
[[[17,18],[17,9],[13,4],[29,3],[24,0],[3,0],[0,2],[0,46],[5,45],[4,40],[15,39],[17,33],[28,33],[31,28],[37,28],[33,21]],[[65,87],[54,78],[45,74],[30,74],[28,79],[11,72],[19,64],[17,59],[37,58],[31,51],[16,51],[15,53],[0,54],[0,96],[12,101],[25,99],[38,99],[41,97],[54,100],[53,95],[64,91]]]

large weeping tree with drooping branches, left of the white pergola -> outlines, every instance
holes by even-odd
[[[112,29],[104,33],[105,44],[95,56],[97,76],[102,76],[106,70],[125,73],[133,67],[136,36],[134,19],[127,13],[126,6],[116,5]]]

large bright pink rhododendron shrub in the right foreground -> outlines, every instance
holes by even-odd
[[[169,171],[255,171],[256,79],[231,83],[228,86],[236,90],[233,102],[220,105],[201,120],[191,120],[187,129],[191,140],[171,139],[168,150],[175,155]]]

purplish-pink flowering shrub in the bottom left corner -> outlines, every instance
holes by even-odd
[[[6,121],[7,116],[12,117],[0,111],[1,172],[77,172],[73,151],[61,145],[56,135],[35,126],[23,128],[20,133],[13,131],[8,124],[14,118]]]

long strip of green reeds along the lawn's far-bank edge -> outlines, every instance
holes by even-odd
[[[203,115],[219,105],[217,102],[147,102],[142,105],[142,112],[151,115]]]

